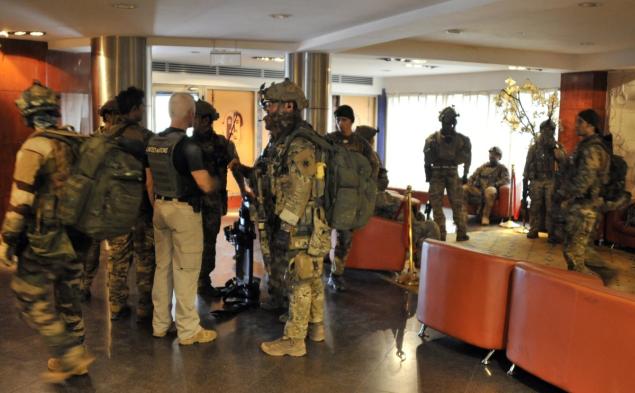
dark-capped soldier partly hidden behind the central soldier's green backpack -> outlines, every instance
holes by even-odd
[[[373,170],[372,176],[376,178],[379,173],[380,161],[372,146],[364,138],[353,132],[353,123],[355,122],[353,109],[348,105],[342,105],[335,110],[334,115],[338,130],[326,135],[326,139],[366,157]],[[345,289],[343,279],[344,265],[351,250],[353,231],[338,229],[336,233],[335,258],[331,261],[331,274],[328,285],[335,291],[343,291]]]

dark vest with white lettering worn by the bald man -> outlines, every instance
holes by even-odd
[[[148,142],[146,153],[157,195],[183,198],[196,193],[194,179],[181,175],[174,165],[174,149],[185,138],[184,132],[163,131]]]

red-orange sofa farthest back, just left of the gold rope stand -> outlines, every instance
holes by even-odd
[[[373,216],[366,226],[353,234],[346,267],[400,272],[405,259],[403,224]]]

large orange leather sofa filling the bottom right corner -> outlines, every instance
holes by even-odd
[[[519,263],[507,357],[567,391],[635,392],[635,296]]]

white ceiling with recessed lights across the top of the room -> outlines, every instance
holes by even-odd
[[[635,0],[0,0],[0,29],[44,30],[51,47],[86,46],[99,35],[150,37],[156,59],[208,64],[210,47],[251,56],[316,50],[333,55],[334,73],[403,76],[504,69],[635,66]],[[115,9],[114,2],[137,5]],[[269,15],[293,16],[277,20]],[[462,29],[462,34],[448,34]],[[180,48],[169,49],[168,46]],[[191,53],[202,48],[200,54]],[[248,51],[248,52],[247,52]],[[197,56],[200,55],[200,56]],[[406,69],[378,57],[439,65]],[[390,71],[385,71],[390,70]]]

